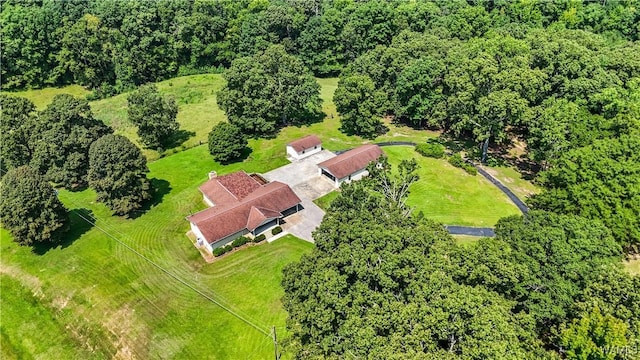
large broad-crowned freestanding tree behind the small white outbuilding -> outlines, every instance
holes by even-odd
[[[234,61],[224,78],[227,84],[218,93],[218,105],[246,134],[270,134],[321,114],[320,85],[302,61],[280,45]]]

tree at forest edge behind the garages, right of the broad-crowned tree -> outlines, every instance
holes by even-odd
[[[373,81],[366,75],[340,79],[333,95],[333,102],[340,114],[340,130],[369,139],[378,136],[384,127],[378,111],[380,96]]]

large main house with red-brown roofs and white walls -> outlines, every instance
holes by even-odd
[[[267,183],[244,171],[214,176],[200,186],[200,191],[211,207],[187,220],[198,244],[209,251],[279,225],[283,218],[297,212],[302,202],[288,185]]]

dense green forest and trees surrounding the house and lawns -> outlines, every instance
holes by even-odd
[[[285,268],[289,351],[638,355],[640,278],[620,265],[640,253],[637,2],[7,0],[0,16],[0,190],[19,201],[42,190],[38,201],[51,204],[49,223],[29,228],[14,221],[20,203],[3,201],[14,234],[68,230],[50,183],[90,186],[116,215],[143,208],[153,189],[140,149],[94,119],[87,100],[58,96],[36,111],[5,91],[79,84],[89,100],[133,91],[129,121],[155,149],[188,134],[175,100],[149,83],[223,73],[217,104],[229,124],[209,142],[227,163],[247,137],[320,121],[316,78],[339,77],[340,131],[374,140],[385,120],[438,131],[478,164],[520,148],[510,165],[542,191],[526,199],[529,214],[501,219],[495,238],[462,247],[405,205],[410,162],[371,168],[331,204],[311,253]]]

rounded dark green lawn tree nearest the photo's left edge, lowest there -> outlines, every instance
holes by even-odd
[[[69,228],[67,209],[49,183],[28,166],[9,170],[0,185],[0,219],[16,242],[58,242]]]

